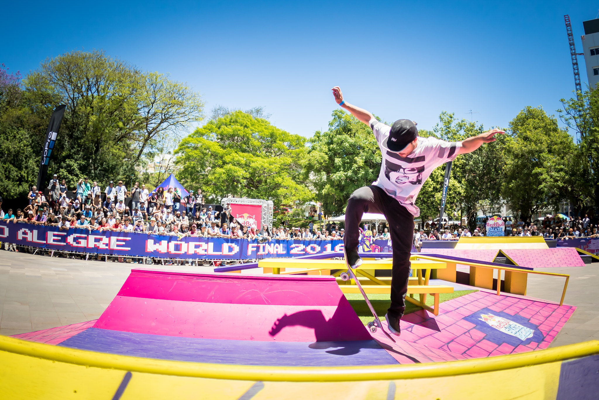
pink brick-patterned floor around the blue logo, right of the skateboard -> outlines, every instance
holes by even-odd
[[[439,315],[417,311],[404,315],[401,336],[391,342],[379,331],[376,339],[400,363],[439,362],[540,350],[549,344],[576,307],[506,294],[478,291],[443,302]],[[495,315],[533,330],[521,340],[482,320]],[[384,323],[385,324],[385,323]],[[386,325],[386,324],[385,324]]]

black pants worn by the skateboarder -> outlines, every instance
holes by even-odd
[[[401,317],[406,310],[406,293],[410,277],[410,252],[414,236],[414,216],[397,200],[377,186],[366,186],[352,193],[347,200],[345,214],[345,236],[347,249],[358,248],[362,214],[382,213],[387,218],[393,248],[391,273],[391,307],[387,310],[392,317]]]

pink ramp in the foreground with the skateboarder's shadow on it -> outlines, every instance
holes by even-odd
[[[208,339],[371,339],[332,276],[134,269],[94,327]]]

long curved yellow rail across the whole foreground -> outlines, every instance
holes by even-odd
[[[86,367],[119,369],[149,374],[251,381],[338,382],[447,377],[521,368],[599,354],[599,341],[588,341],[547,350],[531,351],[530,353],[482,359],[335,368],[226,365],[156,360],[77,350],[23,341],[8,336],[0,336],[1,351]]]

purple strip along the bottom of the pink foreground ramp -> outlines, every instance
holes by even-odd
[[[397,361],[374,340],[343,342],[263,342],[179,338],[90,328],[64,347],[162,360],[240,365],[352,366]]]

